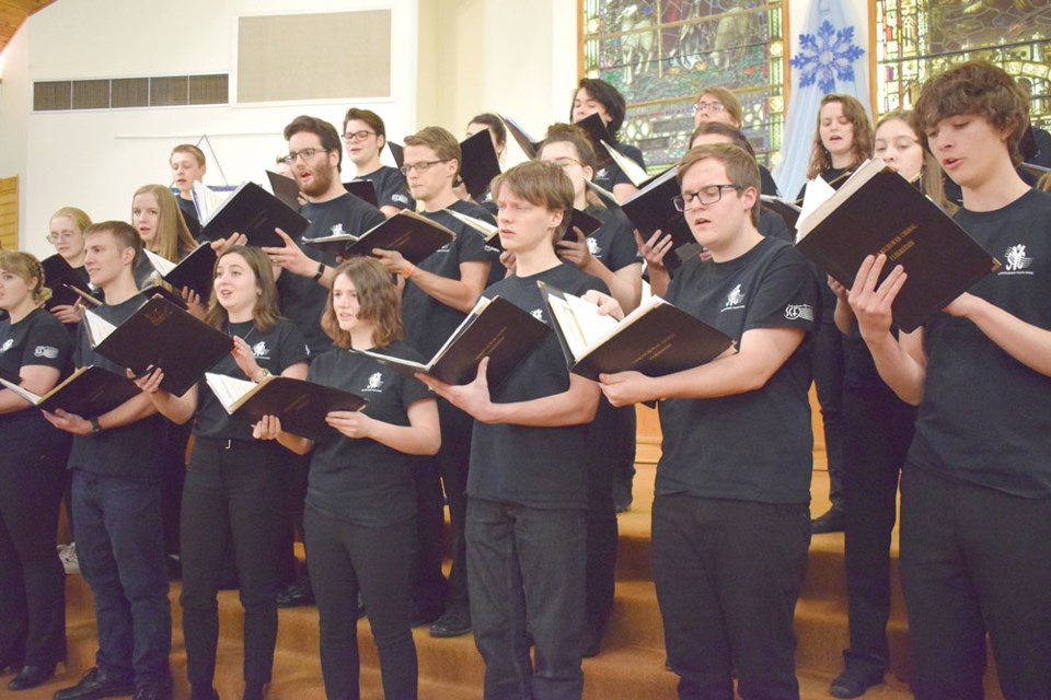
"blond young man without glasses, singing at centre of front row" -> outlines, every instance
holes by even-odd
[[[493,184],[515,275],[486,290],[550,323],[538,281],[571,294],[605,285],[558,258],[573,184],[553,163],[522,163]],[[425,381],[474,418],[467,477],[467,581],[485,697],[579,699],[585,628],[587,423],[594,383],[569,374],[554,334],[490,388]],[[535,646],[535,666],[530,644]]]

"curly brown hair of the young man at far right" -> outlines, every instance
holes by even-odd
[[[1021,163],[1018,143],[1029,126],[1029,102],[1007,72],[989,61],[958,63],[931,77],[920,91],[914,107],[916,126],[927,147],[927,131],[939,121],[973,114],[993,128],[1007,131],[1007,152],[1015,165]]]

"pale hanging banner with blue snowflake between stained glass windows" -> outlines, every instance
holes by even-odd
[[[774,168],[777,188],[795,197],[807,182],[821,98],[829,93],[856,97],[871,115],[868,94],[868,32],[859,12],[865,4],[813,0],[799,50],[792,57],[792,93],[785,116],[781,162]]]

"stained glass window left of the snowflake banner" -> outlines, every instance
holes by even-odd
[[[773,164],[785,125],[781,0],[582,0],[582,10],[585,75],[624,95],[621,140],[650,172],[686,151],[697,94],[716,85],[740,100],[744,135]]]

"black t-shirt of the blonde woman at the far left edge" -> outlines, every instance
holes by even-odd
[[[68,374],[73,342],[61,322],[43,308],[34,308],[25,318],[12,324],[0,320],[0,370],[19,376],[24,366],[55,368],[59,381]],[[0,452],[19,444],[36,444],[41,439],[55,439],[55,428],[33,407],[0,415]]]

